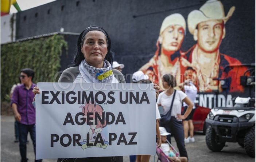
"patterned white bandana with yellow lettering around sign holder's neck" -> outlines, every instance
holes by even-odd
[[[110,63],[104,60],[103,68],[90,66],[86,60],[82,60],[79,71],[87,83],[113,83],[113,72]],[[115,83],[115,82],[114,82]]]

